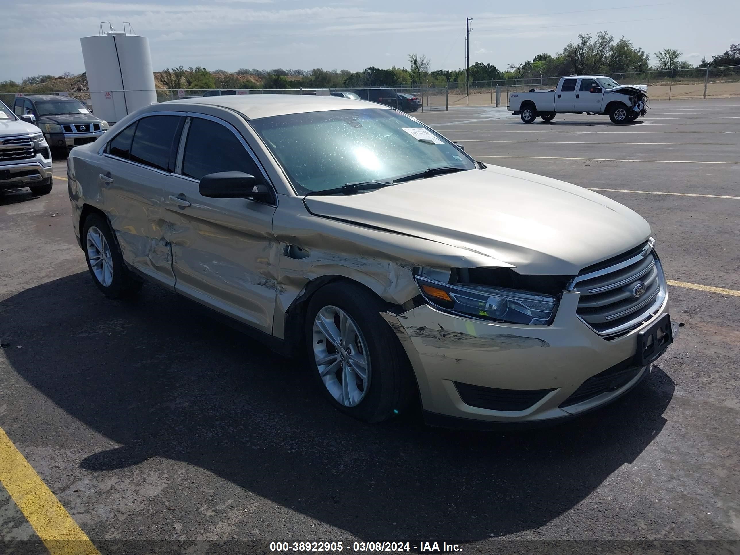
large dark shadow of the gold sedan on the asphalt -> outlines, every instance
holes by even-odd
[[[365,425],[330,408],[306,366],[156,286],[107,300],[87,272],[0,303],[10,364],[81,423],[121,444],[104,473],[167,457],[361,539],[457,543],[539,528],[569,511],[665,425],[659,366],[622,400],[532,431],[428,428],[416,412]]]

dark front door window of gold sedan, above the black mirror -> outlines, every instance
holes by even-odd
[[[262,181],[257,164],[231,129],[203,118],[190,121],[182,172],[198,180],[209,173],[244,172]]]

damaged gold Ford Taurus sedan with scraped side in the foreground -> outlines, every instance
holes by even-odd
[[[95,286],[195,300],[308,357],[329,403],[369,422],[417,394],[436,425],[554,422],[625,394],[673,340],[626,206],[481,164],[380,104],[290,100],[152,105],[73,149]]]

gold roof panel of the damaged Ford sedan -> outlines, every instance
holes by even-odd
[[[357,110],[374,108],[392,110],[375,102],[340,98],[337,96],[314,96],[292,94],[248,94],[227,96],[204,96],[201,98],[184,98],[168,101],[163,104],[192,104],[194,107],[206,104],[235,110],[248,119],[269,118],[273,115],[300,114],[303,112],[326,112],[329,110]]]

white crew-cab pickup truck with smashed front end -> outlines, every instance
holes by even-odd
[[[620,85],[603,75],[571,75],[551,90],[509,95],[508,110],[531,124],[539,115],[551,121],[555,114],[608,114],[614,124],[635,121],[647,112],[647,85]]]

